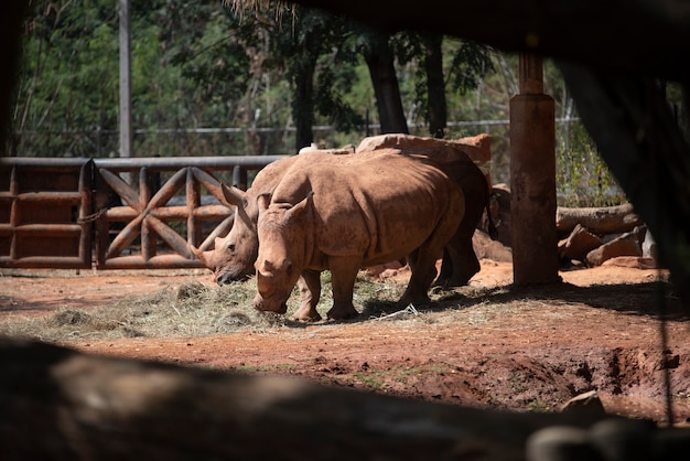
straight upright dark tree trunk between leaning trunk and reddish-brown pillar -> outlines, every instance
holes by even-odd
[[[427,105],[429,131],[434,138],[443,138],[448,121],[445,83],[443,82],[443,52],[441,35],[424,35],[424,71],[427,73]]]

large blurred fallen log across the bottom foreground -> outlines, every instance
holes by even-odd
[[[513,414],[0,340],[0,459],[522,460]],[[601,419],[601,416],[599,416]]]

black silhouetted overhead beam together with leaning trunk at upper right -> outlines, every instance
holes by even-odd
[[[422,30],[559,61],[580,116],[649,226],[662,264],[690,304],[690,148],[657,79],[690,82],[690,6],[639,0],[362,0],[299,3],[386,31]],[[612,26],[615,18],[616,26]]]

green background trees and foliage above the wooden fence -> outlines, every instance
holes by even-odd
[[[279,19],[279,20],[277,20]],[[119,19],[111,0],[34,0],[25,25],[24,64],[7,148],[24,157],[118,154]],[[234,156],[292,153],[293,127],[327,147],[357,144],[378,124],[364,56],[391,50],[410,132],[429,136],[424,68],[429,35],[381,34],[351,20],[302,7],[238,13],[222,2],[132,2],[134,154]],[[507,120],[518,93],[518,57],[481,44],[442,42],[446,118]],[[309,81],[312,87],[305,87]],[[298,95],[298,89],[308,92]],[[558,68],[545,66],[546,93],[558,118],[576,112]],[[682,96],[668,86],[682,109]],[[676,107],[675,106],[675,107]],[[684,117],[682,110],[679,117]],[[686,122],[687,125],[687,122]],[[567,128],[569,126],[569,128]],[[197,133],[208,127],[237,132]],[[559,203],[624,200],[582,127],[558,122]],[[272,131],[266,130],[271,129]],[[169,130],[168,132],[153,132]],[[494,182],[509,182],[509,131],[503,125],[451,126],[449,138],[492,135]]]

